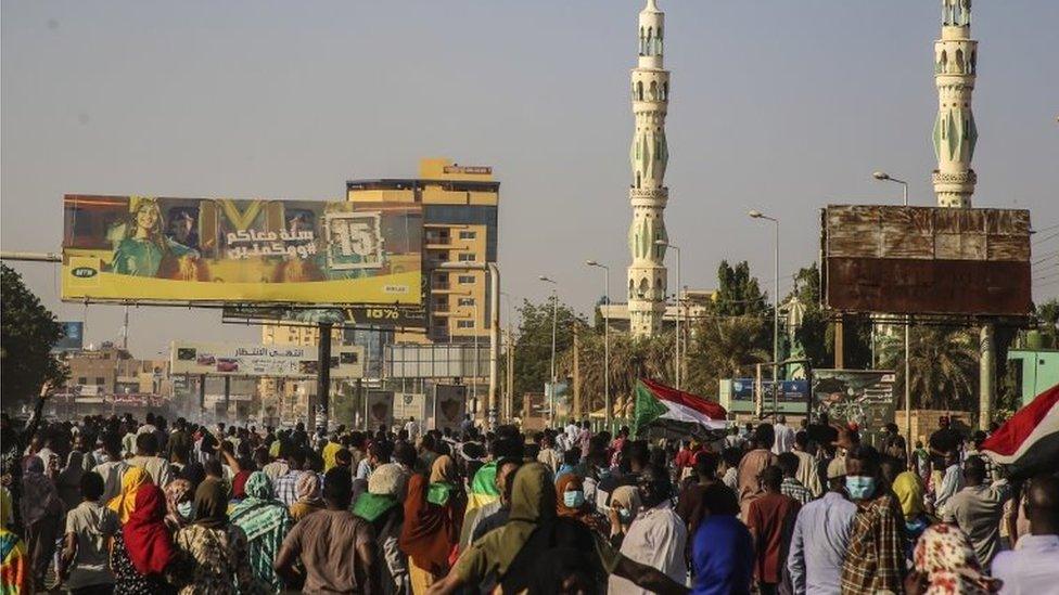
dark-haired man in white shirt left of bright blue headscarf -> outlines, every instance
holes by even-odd
[[[621,553],[682,584],[688,571],[684,555],[688,529],[673,509],[669,476],[665,469],[648,466],[637,480],[637,489],[643,507],[629,525]],[[616,575],[611,575],[607,592],[612,595],[649,593]]]

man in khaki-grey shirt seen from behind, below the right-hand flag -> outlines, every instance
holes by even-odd
[[[985,570],[1000,551],[1000,518],[1011,497],[1007,481],[987,483],[987,470],[980,456],[964,463],[964,489],[953,495],[942,520],[955,523],[967,535],[978,561]]]

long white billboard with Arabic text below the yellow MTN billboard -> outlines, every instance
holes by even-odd
[[[169,348],[170,374],[212,376],[316,377],[319,359],[316,346],[232,345],[174,341]],[[331,347],[331,378],[363,376],[363,348]]]

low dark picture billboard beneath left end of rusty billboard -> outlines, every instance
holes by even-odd
[[[814,370],[813,409],[830,423],[855,423],[860,438],[878,447],[879,434],[894,421],[895,376],[886,370]]]

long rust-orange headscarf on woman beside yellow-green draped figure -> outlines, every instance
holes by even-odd
[[[438,457],[441,458],[448,457]],[[434,466],[438,466],[437,462]],[[449,554],[460,541],[464,504],[458,497],[450,497],[444,506],[428,502],[429,487],[429,481],[421,474],[416,474],[408,480],[405,522],[400,529],[399,543],[401,551],[408,554],[416,566],[437,575],[445,574],[448,570]]]

